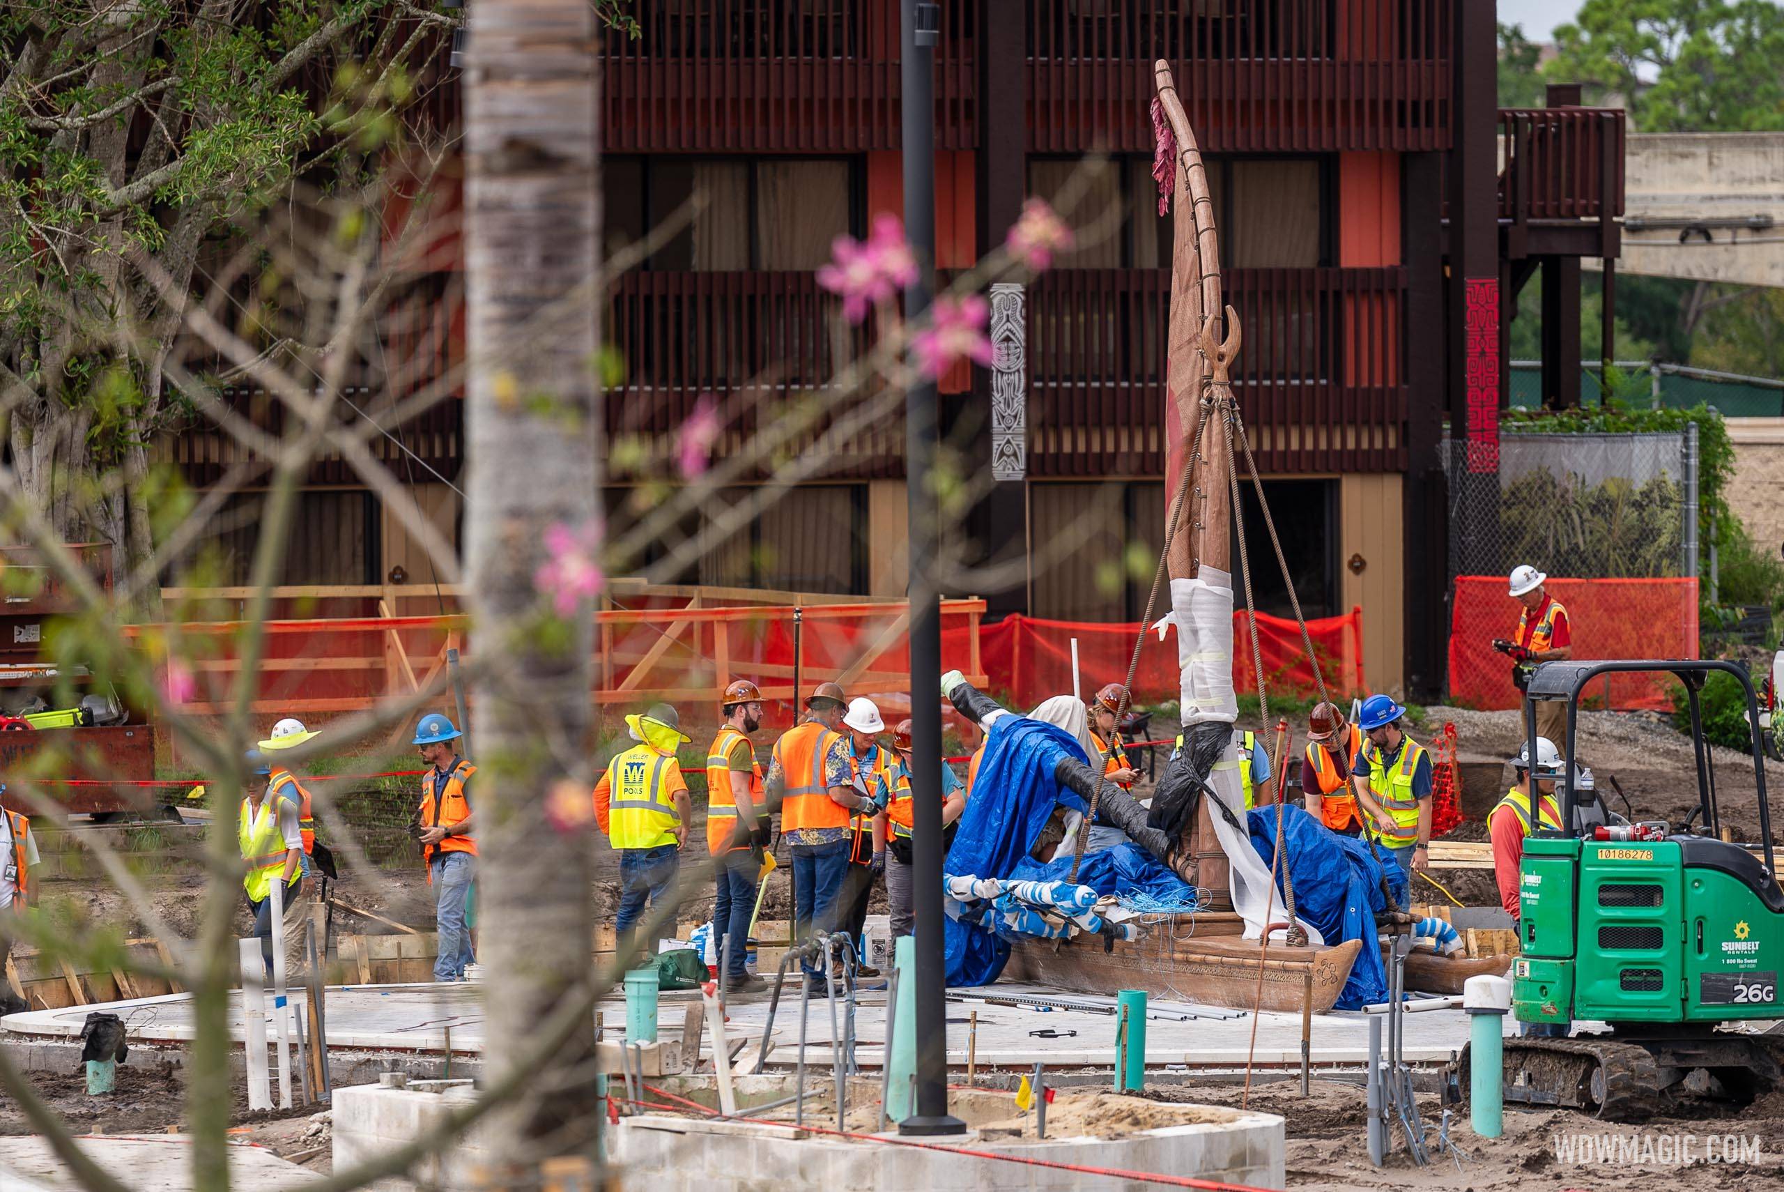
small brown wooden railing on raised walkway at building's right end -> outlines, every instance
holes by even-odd
[[[1499,216],[1604,219],[1623,214],[1620,107],[1502,107]]]

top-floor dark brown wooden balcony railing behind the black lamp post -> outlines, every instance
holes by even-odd
[[[608,152],[863,152],[899,146],[897,0],[639,0],[607,34]],[[976,145],[978,2],[942,5],[937,148]]]

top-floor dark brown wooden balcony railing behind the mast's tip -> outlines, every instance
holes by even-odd
[[[1035,152],[1149,152],[1167,59],[1204,150],[1450,143],[1454,0],[1029,0]]]

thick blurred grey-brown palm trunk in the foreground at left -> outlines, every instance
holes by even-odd
[[[596,16],[587,0],[478,0],[466,64],[469,393],[466,537],[476,653],[500,671],[473,689],[478,960],[489,1078],[591,967],[591,840],[546,819],[555,783],[589,778],[583,601],[564,633],[535,591],[553,523],[591,525],[599,493],[591,360],[599,243]],[[587,782],[582,789],[592,789]],[[492,1160],[589,1153],[594,1024],[492,1122]]]

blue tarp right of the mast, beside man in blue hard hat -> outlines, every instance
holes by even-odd
[[[1276,851],[1276,807],[1249,814],[1251,844],[1263,864]],[[1368,853],[1368,844],[1331,832],[1299,807],[1283,808],[1283,833],[1288,848],[1283,857],[1288,876],[1295,883],[1295,914],[1318,928],[1327,944],[1363,940],[1350,967],[1350,980],[1338,996],[1340,1010],[1358,1010],[1388,999],[1388,974],[1381,964],[1381,940],[1375,935],[1375,915],[1384,912],[1381,894],[1383,869],[1397,901],[1406,898],[1406,871],[1386,851],[1381,864]],[[1277,898],[1283,898],[1283,874],[1276,874]]]

